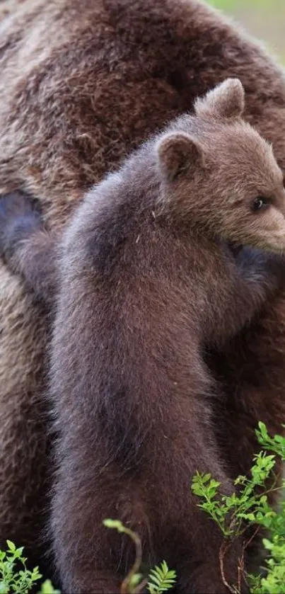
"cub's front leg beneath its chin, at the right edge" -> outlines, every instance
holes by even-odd
[[[264,304],[285,287],[283,256],[249,247],[233,253],[225,246],[222,252],[220,269],[219,258],[216,258],[218,290],[215,292],[211,287],[209,293],[211,316],[204,337],[208,345],[219,349],[237,336],[261,312]]]

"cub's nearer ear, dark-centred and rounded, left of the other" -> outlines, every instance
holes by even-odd
[[[156,146],[158,166],[168,181],[183,173],[191,175],[197,167],[203,166],[203,151],[192,136],[183,132],[170,132],[158,141]]]

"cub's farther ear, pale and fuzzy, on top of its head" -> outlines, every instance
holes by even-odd
[[[245,108],[245,91],[239,79],[226,79],[194,103],[200,118],[239,118]]]

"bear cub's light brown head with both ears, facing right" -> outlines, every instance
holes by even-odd
[[[285,190],[272,147],[242,119],[245,93],[227,79],[156,144],[161,208],[204,234],[285,249]]]

